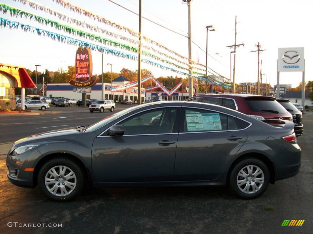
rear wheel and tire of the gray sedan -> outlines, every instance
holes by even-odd
[[[233,167],[228,181],[230,190],[243,199],[259,197],[268,185],[269,169],[257,158],[245,158],[238,162]]]

